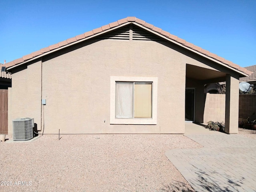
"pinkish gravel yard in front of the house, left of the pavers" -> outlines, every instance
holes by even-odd
[[[0,181],[12,184],[0,191],[192,192],[164,152],[200,147],[186,136],[162,134],[61,135],[60,140],[44,135],[33,142],[0,142]]]

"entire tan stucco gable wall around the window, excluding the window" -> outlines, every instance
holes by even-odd
[[[100,40],[43,58],[44,133],[182,134],[186,63],[204,65],[154,41]],[[156,125],[110,124],[110,76],[158,78]],[[13,74],[11,107],[40,129],[41,62]]]

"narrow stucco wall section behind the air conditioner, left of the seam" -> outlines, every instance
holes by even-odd
[[[8,103],[8,134],[12,134],[12,120],[34,118],[41,125],[41,61],[28,65],[27,69],[12,74],[12,88]]]

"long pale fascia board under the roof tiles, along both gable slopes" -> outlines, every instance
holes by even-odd
[[[24,62],[22,62],[22,63],[20,63],[20,64],[17,64],[17,65],[14,65],[14,66],[10,66],[10,67],[7,68],[7,70],[11,70],[11,69],[13,69],[13,68],[15,68],[15,67],[18,67],[18,66],[20,66],[20,65],[26,64],[26,63],[31,62],[31,61],[33,61],[33,60],[36,60],[36,59],[38,59],[38,58],[42,58],[43,56],[46,56],[46,55],[51,54],[51,53],[53,53],[53,52],[56,52],[56,51],[58,51],[58,50],[62,50],[62,49],[64,49],[64,48],[67,48],[67,47],[72,46],[72,45],[74,45],[74,44],[78,44],[78,43],[83,42],[83,41],[86,41],[86,40],[88,40],[88,39],[92,39],[92,38],[94,38],[94,37],[96,37],[96,36],[100,36],[100,35],[102,35],[102,34],[108,33],[108,32],[110,32],[110,31],[112,31],[112,30],[116,30],[116,29],[118,29],[118,28],[121,28],[121,27],[126,26],[126,25],[131,24],[131,23],[134,24],[134,25],[136,25],[136,26],[138,26],[138,27],[140,27],[140,28],[143,28],[144,30],[146,30],[146,31],[148,31],[148,32],[150,32],[150,33],[153,33],[153,34],[155,34],[155,35],[157,35],[157,36],[160,36],[161,38],[163,38],[163,39],[165,39],[165,40],[167,40],[167,41],[169,41],[169,42],[172,42],[172,43],[174,43],[174,44],[176,44],[176,45],[178,45],[178,46],[181,46],[181,47],[183,47],[183,48],[185,48],[185,49],[187,49],[187,50],[190,50],[191,52],[194,52],[195,54],[198,54],[198,55],[200,55],[200,56],[202,56],[202,57],[204,57],[204,58],[207,58],[207,59],[209,59],[209,60],[212,60],[213,62],[216,62],[216,63],[218,63],[218,64],[220,64],[220,65],[222,65],[222,66],[224,66],[224,67],[226,67],[226,68],[229,68],[230,70],[232,70],[232,71],[234,71],[234,72],[237,72],[238,74],[240,74],[240,75],[242,75],[242,76],[246,76],[246,77],[249,76],[248,74],[245,74],[244,72],[241,72],[241,71],[239,71],[239,70],[236,70],[236,69],[234,69],[234,68],[232,68],[232,67],[230,67],[230,66],[228,66],[228,65],[226,65],[226,64],[224,64],[224,63],[222,63],[222,62],[220,62],[220,61],[218,61],[218,60],[216,60],[216,59],[214,59],[214,58],[211,58],[211,57],[206,56],[206,55],[204,55],[204,54],[202,54],[202,53],[200,53],[200,52],[197,52],[196,50],[193,50],[193,49],[191,49],[191,48],[189,48],[189,47],[187,47],[187,46],[184,46],[184,45],[180,44],[179,42],[176,42],[176,41],[174,41],[174,40],[172,40],[172,39],[170,39],[170,38],[167,38],[166,36],[164,36],[164,35],[162,35],[162,34],[159,34],[158,32],[155,32],[155,31],[153,31],[153,30],[150,30],[150,29],[148,29],[148,28],[146,28],[146,27],[144,27],[144,26],[142,26],[141,24],[138,24],[138,23],[136,23],[136,22],[126,22],[126,23],[121,24],[121,25],[118,25],[118,26],[116,26],[116,27],[114,27],[114,28],[105,30],[105,31],[103,31],[103,32],[94,34],[94,35],[92,35],[92,36],[89,36],[89,37],[86,37],[86,38],[84,38],[84,39],[78,40],[78,41],[76,41],[76,42],[70,43],[70,44],[68,44],[68,45],[62,46],[62,47],[60,47],[60,48],[51,50],[51,51],[49,51],[49,52],[46,52],[46,53],[44,53],[44,54],[41,54],[41,55],[39,55],[39,56],[36,56],[36,57],[31,58],[31,59],[29,59],[29,60],[26,60],[26,61],[24,61]]]

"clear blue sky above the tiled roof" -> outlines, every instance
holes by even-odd
[[[256,65],[256,0],[2,0],[0,63],[136,16],[240,66]]]

